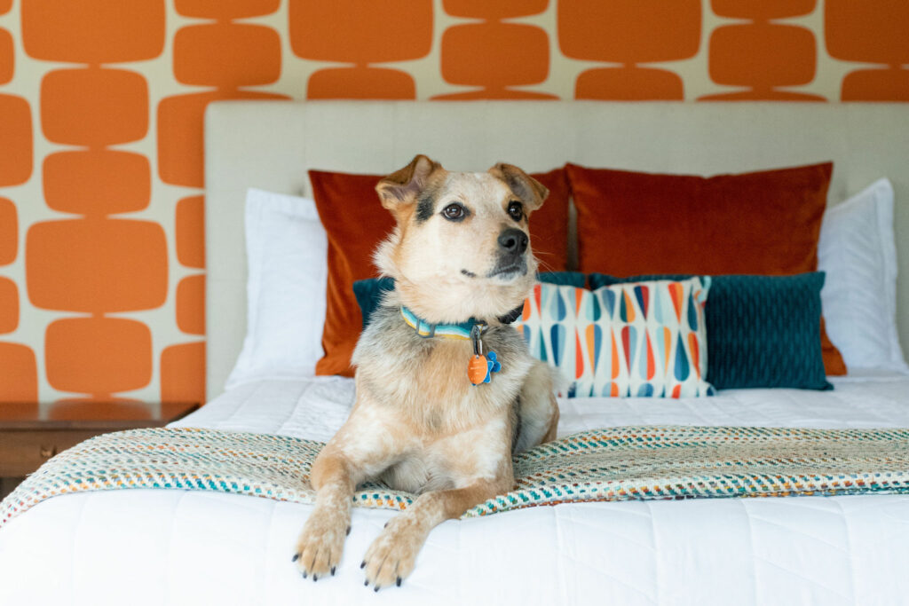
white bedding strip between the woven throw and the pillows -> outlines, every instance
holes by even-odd
[[[559,436],[616,425],[750,425],[819,429],[909,427],[909,375],[830,377],[835,389],[724,390],[709,398],[559,399]],[[248,382],[174,427],[276,433],[329,440],[354,402],[354,380]]]

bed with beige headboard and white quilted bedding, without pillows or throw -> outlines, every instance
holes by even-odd
[[[715,174],[833,159],[833,204],[881,176],[909,197],[905,108],[587,103],[213,104],[206,117],[207,390],[176,426],[326,441],[354,398],[343,377],[240,382],[249,187],[308,194],[307,168],[388,173],[417,152],[455,169],[566,160]],[[539,144],[545,141],[544,145]],[[906,236],[897,206],[897,242]],[[901,221],[903,224],[901,224]],[[903,229],[901,229],[903,228]],[[900,250],[909,270],[909,251]],[[898,309],[909,308],[906,281]],[[909,326],[902,343],[909,343]],[[909,427],[909,374],[865,369],[833,391],[712,398],[560,398],[559,435],[618,425]],[[0,531],[10,603],[892,604],[909,595],[909,496],[590,502],[437,527],[401,589],[363,587],[360,555],[395,515],[355,508],[336,578],[290,562],[311,506],[218,492],[82,492]]]

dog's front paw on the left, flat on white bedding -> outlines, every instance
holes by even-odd
[[[350,526],[344,516],[336,512],[316,509],[306,520],[300,538],[296,541],[293,561],[303,574],[318,581],[327,574],[335,574],[344,541]]]

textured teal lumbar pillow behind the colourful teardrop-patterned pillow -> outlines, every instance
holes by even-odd
[[[592,288],[686,275],[588,276]],[[716,275],[706,304],[706,378],[717,389],[829,390],[821,353],[824,272]]]

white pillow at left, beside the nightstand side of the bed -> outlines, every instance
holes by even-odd
[[[311,198],[246,192],[246,337],[225,388],[315,375],[328,239]]]

